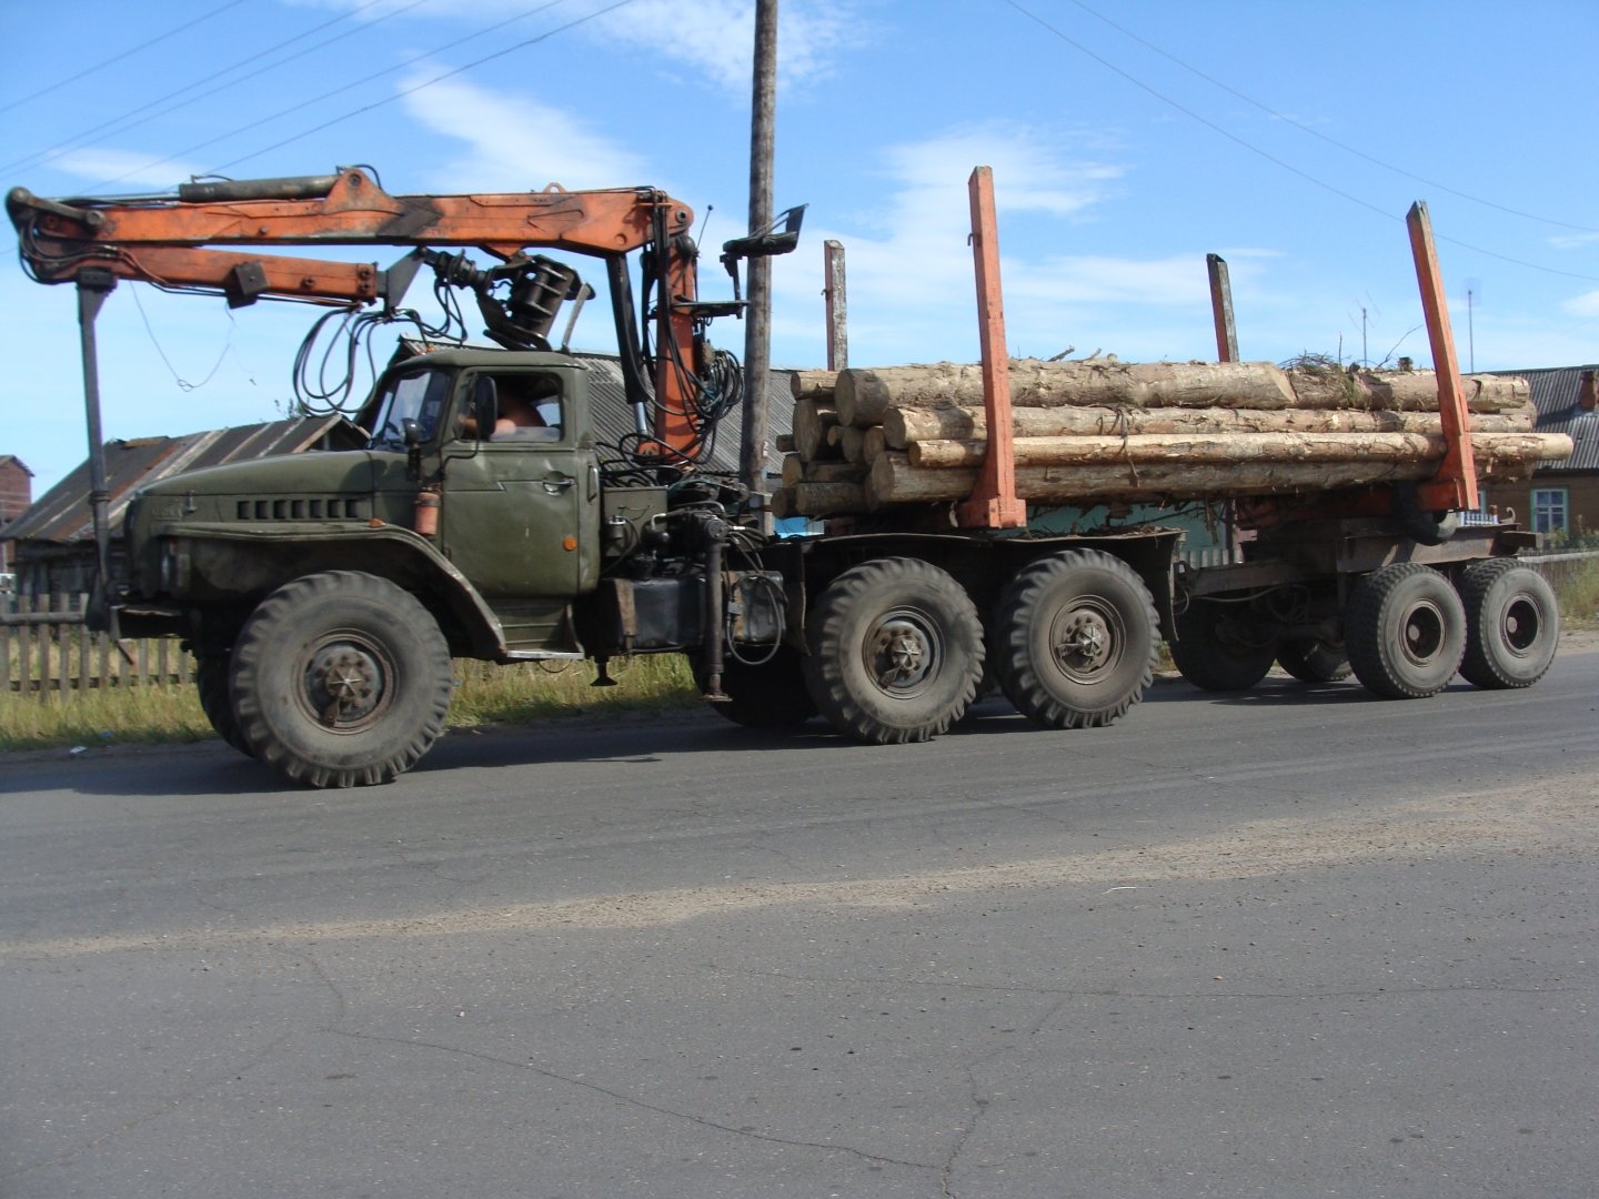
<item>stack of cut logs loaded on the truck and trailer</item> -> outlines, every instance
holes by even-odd
[[[1533,433],[1522,379],[1466,376],[1477,475],[1572,452]],[[966,499],[988,449],[972,364],[796,371],[780,516]],[[1043,505],[1190,502],[1430,478],[1444,456],[1431,371],[1271,363],[1011,361],[1017,494]]]

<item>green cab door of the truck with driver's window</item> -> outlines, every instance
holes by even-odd
[[[556,372],[491,371],[500,419],[446,446],[440,547],[521,652],[579,649],[568,611],[600,563],[598,465]],[[462,384],[470,398],[477,377]],[[582,444],[579,444],[582,441]]]

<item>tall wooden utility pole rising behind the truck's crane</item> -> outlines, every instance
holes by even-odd
[[[755,0],[755,88],[750,99],[750,235],[772,224],[772,158],[777,128],[777,0]],[[772,261],[747,261],[750,299],[744,329],[744,441],[740,473],[752,492],[766,491],[766,379],[772,360]]]

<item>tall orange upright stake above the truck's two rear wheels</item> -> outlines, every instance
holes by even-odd
[[[977,267],[977,333],[983,355],[983,414],[988,454],[971,499],[956,520],[966,529],[1027,528],[1027,502],[1015,494],[1014,428],[1011,425],[1011,360],[1004,339],[1004,296],[999,286],[999,222],[995,216],[993,168],[979,166],[967,181],[972,201],[972,257]]]

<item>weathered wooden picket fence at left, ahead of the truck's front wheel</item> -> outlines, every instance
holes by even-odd
[[[98,687],[192,683],[177,638],[125,638],[83,625],[85,595],[0,595],[0,694],[70,697]]]

